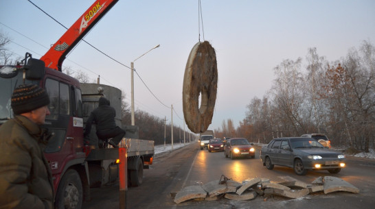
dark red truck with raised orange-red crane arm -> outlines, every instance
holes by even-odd
[[[90,145],[84,143],[84,123],[98,107],[99,97],[106,97],[116,110],[116,123],[121,126],[121,91],[102,84],[80,84],[62,73],[65,56],[87,32],[98,23],[118,0],[95,1],[41,59],[25,54],[23,63],[0,66],[0,125],[13,117],[10,106],[16,86],[32,83],[45,88],[51,103],[45,127],[53,133],[44,150],[52,170],[55,208],[79,209],[82,201],[90,199],[90,188],[112,184],[119,177],[118,148],[100,148],[95,127]],[[143,169],[152,164],[154,141],[137,139],[137,128],[126,128],[120,147],[127,147],[128,185],[139,186]],[[133,130],[133,131],[132,131]],[[134,131],[135,130],[135,131]]]

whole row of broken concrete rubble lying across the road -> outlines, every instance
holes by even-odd
[[[179,204],[190,199],[217,200],[226,198],[231,200],[251,200],[257,196],[265,199],[273,195],[299,198],[323,191],[324,194],[336,191],[359,193],[359,189],[338,177],[317,177],[311,184],[306,184],[290,176],[279,176],[282,182],[270,182],[268,179],[249,178],[244,182],[236,182],[225,177],[224,181],[216,180],[203,186],[187,186],[174,196],[174,202]]]

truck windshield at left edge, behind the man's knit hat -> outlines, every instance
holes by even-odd
[[[16,86],[23,84],[22,71],[14,71],[14,66],[0,66],[0,124],[13,117],[10,99]],[[32,83],[26,80],[25,83]]]

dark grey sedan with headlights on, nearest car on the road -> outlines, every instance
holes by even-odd
[[[275,138],[262,146],[260,159],[269,170],[280,165],[293,168],[297,175],[306,175],[310,169],[339,173],[346,166],[343,153],[327,149],[308,137]]]

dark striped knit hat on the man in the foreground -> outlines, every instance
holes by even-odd
[[[49,105],[47,92],[35,84],[21,84],[14,88],[12,106],[14,114],[30,112]]]

